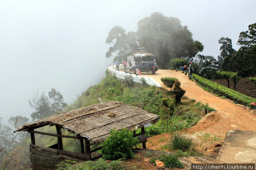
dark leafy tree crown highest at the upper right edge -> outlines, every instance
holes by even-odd
[[[256,23],[249,25],[248,29],[240,32],[237,43],[242,47],[252,47],[256,44]]]

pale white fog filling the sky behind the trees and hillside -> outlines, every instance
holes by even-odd
[[[255,7],[255,0],[1,0],[0,117],[6,124],[11,116],[31,119],[28,100],[37,90],[54,87],[71,104],[99,83],[113,64],[105,40],[115,25],[136,31],[151,13],[177,17],[202,54],[217,58],[222,36],[238,50],[239,33],[256,22]]]

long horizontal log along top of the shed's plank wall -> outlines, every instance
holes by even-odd
[[[71,152],[71,151],[52,149],[52,148],[49,148],[49,147],[43,147],[43,146],[32,145],[32,144],[30,144],[30,147],[31,148],[42,149],[42,150],[45,150],[45,151],[51,151],[51,152],[57,153],[57,154],[72,156],[72,157],[75,157],[75,158],[78,158],[78,159],[90,160],[90,154],[76,153],[76,152]]]

